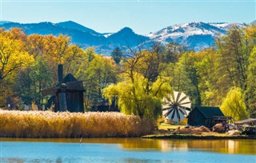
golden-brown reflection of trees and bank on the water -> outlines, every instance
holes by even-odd
[[[65,142],[78,143],[78,139],[19,139],[0,138],[0,141],[28,141],[28,142]],[[203,152],[250,154],[256,155],[256,141],[254,140],[157,140],[141,138],[84,138],[82,143],[115,144],[119,148],[130,151],[155,150],[162,152],[188,151],[196,149]],[[17,161],[18,162],[18,161]],[[56,161],[58,162],[58,161]]]

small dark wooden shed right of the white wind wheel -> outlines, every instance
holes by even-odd
[[[213,127],[217,123],[226,123],[231,117],[225,117],[219,107],[198,106],[194,108],[188,115],[188,125],[201,126],[208,128]]]

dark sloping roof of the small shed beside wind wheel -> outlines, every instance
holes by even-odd
[[[210,107],[210,106],[198,106],[195,109],[198,109],[199,112],[206,118],[212,118],[214,116],[224,116],[222,110],[219,107]],[[191,111],[191,113],[193,110]]]

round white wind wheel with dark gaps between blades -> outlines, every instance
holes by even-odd
[[[162,101],[162,115],[168,120],[178,122],[190,113],[191,102],[185,93],[174,91],[164,97]]]

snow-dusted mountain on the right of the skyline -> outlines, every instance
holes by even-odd
[[[218,34],[226,34],[230,26],[243,27],[239,23],[205,23],[190,22],[168,26],[147,36],[153,42],[178,42],[181,45],[189,47],[191,50],[200,50],[202,48],[214,45],[214,37]]]

